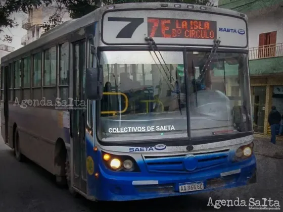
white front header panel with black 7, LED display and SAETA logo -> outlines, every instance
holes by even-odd
[[[246,20],[224,14],[177,10],[114,10],[103,16],[101,35],[101,46],[148,45],[145,38],[152,37],[160,46],[212,47],[213,40],[219,39],[220,47],[248,49]],[[99,30],[97,36],[100,36]]]

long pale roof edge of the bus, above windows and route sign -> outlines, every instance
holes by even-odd
[[[179,5],[179,6],[176,6]],[[176,8],[179,7],[179,8]],[[192,8],[193,7],[193,8]],[[201,12],[201,13],[215,13],[218,15],[227,15],[227,16],[239,16],[247,19],[245,14],[239,13],[237,11],[232,11],[224,8],[217,7],[208,7],[201,5],[192,5],[192,4],[177,4],[177,3],[125,3],[111,6],[101,7],[81,18],[66,21],[63,24],[51,29],[50,31],[42,34],[37,40],[11,52],[9,55],[1,59],[1,63],[4,63],[8,60],[19,57],[26,52],[32,51],[33,49],[44,46],[58,38],[63,37],[64,35],[75,32],[81,28],[84,28],[95,21],[101,20],[101,16],[106,11],[115,11],[115,10],[146,10],[146,9],[172,9],[180,11],[192,11],[192,12]]]

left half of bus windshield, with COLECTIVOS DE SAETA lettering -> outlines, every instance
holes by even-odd
[[[166,65],[160,64],[152,51],[102,52],[104,95],[100,139],[187,136],[186,105],[184,100],[178,101],[176,92],[176,71],[183,67],[183,53],[160,53]],[[181,90],[185,92],[184,85]],[[184,99],[183,95],[181,98]]]

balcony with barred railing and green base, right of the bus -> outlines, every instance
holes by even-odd
[[[250,75],[283,74],[283,43],[250,48]]]

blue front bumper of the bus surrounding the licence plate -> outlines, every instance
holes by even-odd
[[[234,172],[234,174],[227,174],[235,170],[237,172]],[[100,177],[97,179],[95,198],[103,201],[127,201],[196,194],[215,189],[244,186],[256,182],[256,158],[253,155],[245,162],[235,163],[232,166],[222,169],[214,168],[196,173],[164,176],[142,176],[143,174],[140,174],[140,177],[114,176],[107,174],[103,168],[100,168]],[[180,183],[200,181],[204,183],[203,190],[179,192]]]

